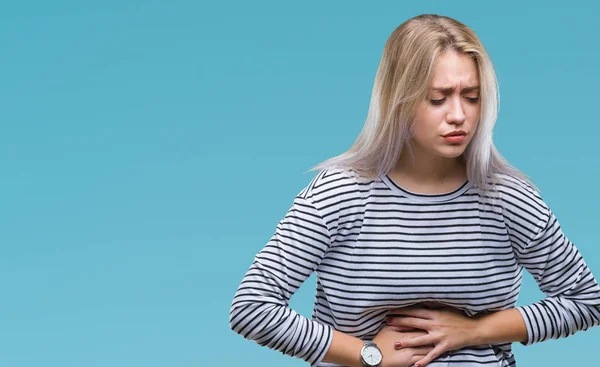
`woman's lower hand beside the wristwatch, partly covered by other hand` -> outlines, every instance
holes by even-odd
[[[400,332],[389,326],[384,326],[373,339],[379,349],[381,349],[381,354],[383,355],[381,367],[408,367],[425,358],[433,349],[433,345],[420,345],[400,350],[394,347],[394,343],[397,341],[408,341],[424,335],[427,335],[424,331]]]

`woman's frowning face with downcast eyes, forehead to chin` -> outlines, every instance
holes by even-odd
[[[479,120],[479,76],[475,61],[446,51],[438,57],[425,100],[416,111],[411,147],[416,154],[457,158]]]

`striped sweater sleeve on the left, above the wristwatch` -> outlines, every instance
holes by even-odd
[[[333,331],[288,306],[329,245],[323,218],[311,201],[299,195],[244,276],[231,305],[231,328],[246,339],[311,365],[320,362]]]

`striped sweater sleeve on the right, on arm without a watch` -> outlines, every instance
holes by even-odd
[[[528,333],[523,344],[530,345],[600,324],[600,288],[552,211],[537,192],[527,191],[525,196],[513,193],[513,203],[521,202],[508,209],[508,217],[517,260],[546,295],[517,307]]]

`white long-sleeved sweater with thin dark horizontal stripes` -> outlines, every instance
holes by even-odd
[[[332,329],[370,340],[390,309],[437,302],[466,315],[515,307],[522,269],[546,298],[518,307],[526,344],[600,323],[600,287],[556,217],[525,182],[500,175],[485,200],[469,182],[441,195],[389,176],[364,182],[323,170],[295,198],[242,280],[230,311],[245,338],[322,362]],[[317,274],[312,319],[289,308]],[[435,366],[515,366],[510,343],[446,353]]]

